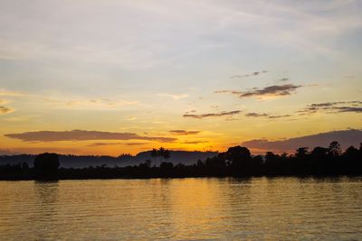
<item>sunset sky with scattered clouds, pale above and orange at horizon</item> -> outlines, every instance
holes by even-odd
[[[361,12],[360,0],[0,0],[0,153],[281,152],[353,131],[357,145]]]

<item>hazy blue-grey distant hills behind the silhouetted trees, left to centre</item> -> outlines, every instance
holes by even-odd
[[[201,159],[204,161],[208,157],[213,157],[217,152],[186,152],[186,151],[170,151],[171,157],[167,162],[177,164],[179,162],[190,165]],[[15,164],[26,162],[29,166],[33,166],[33,159],[35,155],[20,154],[20,155],[3,155],[0,156],[0,165]],[[107,165],[109,167],[119,166],[132,166],[138,165],[146,160],[157,162],[159,165],[163,160],[160,158],[152,158],[151,151],[138,153],[137,155],[120,155],[119,157],[113,156],[94,156],[94,155],[59,155],[61,167],[64,168],[83,168],[89,166]],[[153,164],[153,163],[152,163]]]

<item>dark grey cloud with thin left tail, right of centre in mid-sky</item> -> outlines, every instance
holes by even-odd
[[[297,88],[300,88],[302,86],[296,86],[296,85],[281,85],[281,86],[269,86],[265,88],[252,88],[252,90],[249,91],[238,91],[238,90],[216,90],[214,93],[220,94],[220,93],[230,93],[232,95],[237,95],[240,98],[243,97],[283,97],[291,95]]]

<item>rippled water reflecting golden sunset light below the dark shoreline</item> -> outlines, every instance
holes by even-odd
[[[0,181],[1,240],[362,239],[362,179]]]

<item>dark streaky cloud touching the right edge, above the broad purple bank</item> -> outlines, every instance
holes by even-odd
[[[311,104],[299,111],[297,113],[300,116],[310,115],[315,113],[362,113],[362,101],[338,101],[338,102],[324,102]]]

